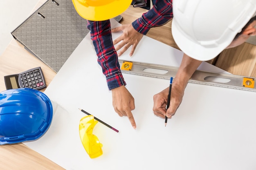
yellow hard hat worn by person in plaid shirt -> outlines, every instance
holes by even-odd
[[[72,0],[77,13],[86,20],[103,21],[123,13],[132,0]]]

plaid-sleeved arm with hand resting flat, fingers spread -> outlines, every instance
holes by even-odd
[[[115,39],[114,45],[121,56],[130,46],[130,56],[134,53],[137,44],[148,33],[151,27],[161,26],[173,18],[172,0],[158,0],[156,4],[148,12],[143,13],[132,24],[126,24],[112,29],[112,32],[123,31],[123,34]]]

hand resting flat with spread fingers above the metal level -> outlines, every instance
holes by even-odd
[[[132,24],[121,25],[117,28],[111,29],[112,33],[118,31],[123,31],[123,34],[113,41],[114,45],[119,43],[117,46],[115,46],[116,51],[121,49],[117,55],[121,56],[130,46],[132,46],[130,51],[130,56],[132,56],[137,45],[139,44],[139,41],[143,37],[143,34],[136,31],[132,27]]]

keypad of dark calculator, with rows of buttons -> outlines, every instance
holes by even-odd
[[[21,88],[34,88],[40,90],[46,87],[43,73],[40,68],[28,70],[19,75],[19,84]]]

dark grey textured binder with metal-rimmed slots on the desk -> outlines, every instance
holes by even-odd
[[[72,0],[47,0],[11,32],[56,73],[88,33],[87,21],[76,12]]]

